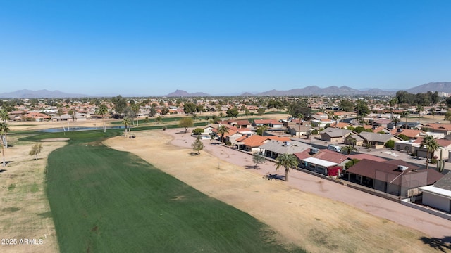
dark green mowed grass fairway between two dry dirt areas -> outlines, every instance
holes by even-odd
[[[252,216],[104,145],[51,153],[47,195],[61,252],[302,252],[274,242]]]

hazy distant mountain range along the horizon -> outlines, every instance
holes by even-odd
[[[438,91],[451,93],[451,82],[431,82],[428,84],[423,84],[415,86],[411,89],[405,90],[409,93],[425,93],[427,91]],[[261,93],[241,93],[237,96],[311,96],[311,95],[323,95],[323,96],[333,96],[333,95],[348,95],[348,96],[358,96],[358,95],[372,95],[372,96],[393,96],[396,91],[394,89],[383,90],[383,89],[352,89],[348,86],[330,86],[326,88],[320,88],[318,86],[307,86],[299,89],[290,89],[288,91],[278,91],[271,90]],[[146,95],[142,95],[146,96]],[[147,96],[154,96],[149,94]],[[166,95],[167,97],[204,97],[212,96],[207,93],[197,92],[188,93],[187,91],[176,90],[173,93]],[[0,98],[87,98],[87,97],[98,97],[89,96],[85,94],[74,94],[74,93],[64,93],[61,91],[48,91],[46,89],[39,91],[30,91],[23,89],[20,91],[13,91],[8,93],[0,93]]]

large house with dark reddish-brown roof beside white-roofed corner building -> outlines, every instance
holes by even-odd
[[[418,195],[419,187],[433,185],[443,177],[435,169],[419,169],[402,160],[376,162],[364,159],[346,172],[349,181],[401,197]]]

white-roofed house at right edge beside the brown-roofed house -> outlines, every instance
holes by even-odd
[[[451,212],[451,172],[435,182],[432,186],[422,186],[423,205]]]

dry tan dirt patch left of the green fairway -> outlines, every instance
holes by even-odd
[[[42,143],[42,153],[30,156],[32,143],[8,135],[6,167],[0,165],[0,252],[58,252],[54,223],[44,190],[44,171],[51,151],[64,142]]]

